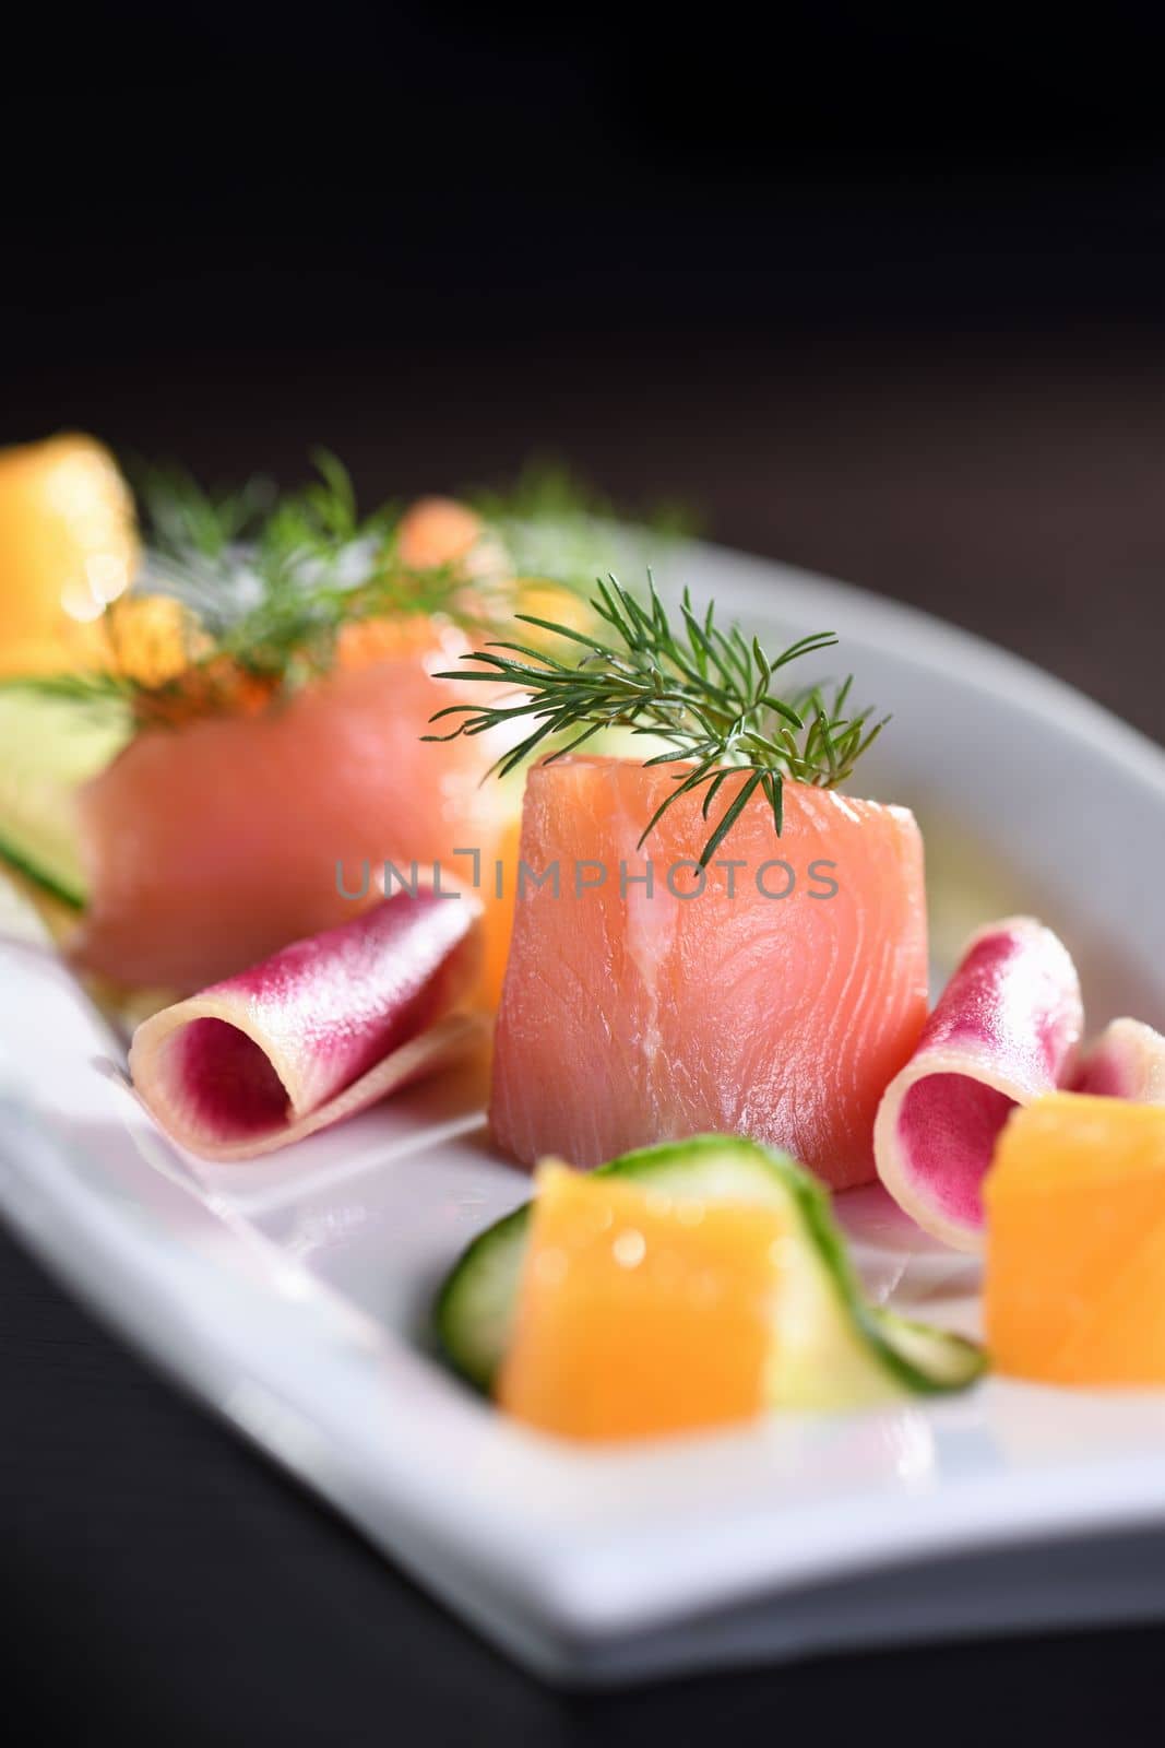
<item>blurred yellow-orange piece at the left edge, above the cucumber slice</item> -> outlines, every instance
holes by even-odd
[[[0,451],[0,673],[105,666],[101,614],[138,561],[133,498],[93,437]]]

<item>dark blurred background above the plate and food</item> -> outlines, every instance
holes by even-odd
[[[1155,16],[24,12],[0,437],[369,500],[552,451],[1160,732]]]

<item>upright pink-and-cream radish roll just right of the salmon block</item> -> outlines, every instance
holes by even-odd
[[[873,1126],[879,1176],[955,1250],[983,1241],[983,1175],[1017,1105],[1062,1086],[1083,1030],[1076,967],[1031,916],[971,937]]]

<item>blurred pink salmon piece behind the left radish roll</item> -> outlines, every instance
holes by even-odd
[[[372,642],[372,622],[360,629]],[[514,802],[503,785],[480,783],[507,739],[419,738],[435,710],[473,696],[433,673],[470,642],[433,622],[389,633],[395,656],[363,661],[356,649],[362,664],[259,715],[141,729],[80,788],[89,904],[70,940],[75,965],[196,995],[348,923],[376,897],[369,869],[391,862],[407,877],[412,864],[440,864],[456,876],[468,865],[458,844],[479,848],[489,891]]]

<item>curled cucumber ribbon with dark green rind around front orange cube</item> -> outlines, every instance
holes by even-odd
[[[962,1390],[983,1370],[975,1342],[872,1306],[833,1220],[828,1192],[786,1154],[737,1136],[699,1134],[624,1154],[599,1175],[634,1178],[690,1201],[779,1208],[789,1245],[767,1402],[851,1409]],[[468,1383],[489,1391],[510,1342],[529,1203],[473,1239],[435,1306],[437,1339]]]

